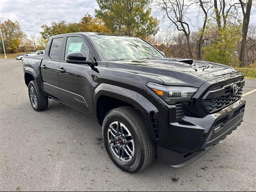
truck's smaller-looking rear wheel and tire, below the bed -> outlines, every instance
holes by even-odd
[[[28,84],[28,96],[30,104],[36,111],[45,110],[48,107],[48,97],[44,96],[37,88],[36,82],[30,81]]]

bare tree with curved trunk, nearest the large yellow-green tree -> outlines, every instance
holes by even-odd
[[[186,37],[186,43],[190,58],[193,58],[192,48],[190,45],[190,28],[188,22],[185,21],[188,5],[184,0],[158,0],[158,6],[164,12],[165,16],[171,21],[178,31],[182,31]]]

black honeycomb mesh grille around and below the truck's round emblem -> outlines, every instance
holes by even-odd
[[[220,108],[224,108],[242,97],[243,89],[240,89],[235,95],[229,94],[214,99],[206,99],[204,105],[210,112],[214,112]]]

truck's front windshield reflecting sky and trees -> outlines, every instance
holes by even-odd
[[[140,38],[111,35],[91,35],[90,37],[106,61],[164,57]]]

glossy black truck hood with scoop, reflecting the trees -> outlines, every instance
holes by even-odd
[[[166,85],[197,88],[206,81],[216,83],[243,76],[229,66],[181,58],[118,60],[107,62],[107,67],[158,78]]]

